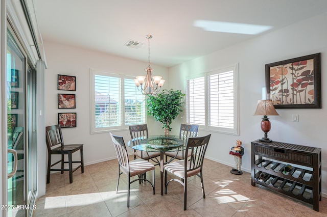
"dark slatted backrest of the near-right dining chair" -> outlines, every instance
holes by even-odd
[[[205,137],[189,138],[186,144],[185,156],[191,153],[191,156],[185,157],[185,173],[188,171],[202,168],[204,154],[208,146],[211,134]]]

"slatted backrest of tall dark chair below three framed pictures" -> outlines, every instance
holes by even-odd
[[[45,127],[45,141],[48,151],[53,148],[61,146],[63,148],[63,139],[60,125],[53,125]]]

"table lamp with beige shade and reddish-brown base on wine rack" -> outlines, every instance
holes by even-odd
[[[261,121],[261,129],[262,129],[262,131],[265,132],[265,137],[260,139],[260,141],[270,143],[272,140],[270,140],[267,137],[267,133],[270,131],[271,125],[270,125],[270,121],[269,121],[269,118],[267,117],[267,115],[279,115],[276,112],[275,107],[272,104],[272,101],[271,100],[258,100],[258,105],[256,106],[254,115],[263,115],[264,116]]]

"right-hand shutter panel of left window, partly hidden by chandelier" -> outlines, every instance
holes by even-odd
[[[124,79],[125,125],[145,124],[145,97],[133,79]]]

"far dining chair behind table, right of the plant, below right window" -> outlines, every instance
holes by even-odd
[[[181,124],[180,125],[180,130],[179,130],[179,139],[186,141],[190,137],[197,137],[198,134],[198,125],[190,125],[190,124]],[[189,155],[191,153],[189,152]],[[178,160],[182,160],[185,157],[185,150],[180,150],[180,151],[171,151],[171,152],[165,152],[166,155],[166,162],[167,162],[167,156],[176,158]]]

